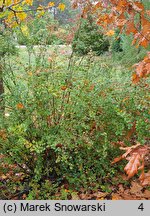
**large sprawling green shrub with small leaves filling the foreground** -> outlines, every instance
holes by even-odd
[[[24,167],[26,184],[32,182],[29,199],[35,198],[35,188],[39,193],[48,187],[47,180],[77,189],[101,187],[120,169],[111,165],[120,153],[115,146],[130,144],[126,135],[134,121],[132,138],[146,141],[148,94],[131,86],[126,69],[109,65],[108,58],[105,67],[101,62],[89,67],[85,59],[74,66],[71,80],[57,61],[53,67],[48,62],[33,66],[5,95],[10,116],[1,122],[6,134],[0,138],[1,152],[7,162]],[[53,197],[55,185],[51,190],[44,199]]]

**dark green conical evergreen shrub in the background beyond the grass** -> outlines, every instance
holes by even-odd
[[[94,23],[92,17],[81,19],[79,30],[75,33],[72,48],[79,55],[86,55],[93,51],[100,55],[108,51],[109,42],[104,38],[100,28]]]

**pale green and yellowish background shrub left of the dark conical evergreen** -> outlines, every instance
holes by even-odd
[[[64,43],[56,32],[58,29],[58,22],[52,18],[50,13],[45,13],[42,18],[30,18],[30,22],[20,28],[15,29],[18,43],[20,45],[52,45]]]

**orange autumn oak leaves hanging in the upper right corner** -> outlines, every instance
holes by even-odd
[[[132,45],[137,48],[150,45],[150,10],[146,10],[141,1],[130,0],[99,0],[91,3],[90,0],[74,0],[73,7],[82,6],[83,14],[92,13],[98,25],[103,27],[107,36],[114,35],[114,29],[133,35]],[[133,83],[150,73],[150,54],[142,62],[134,65],[135,73],[132,76]]]

